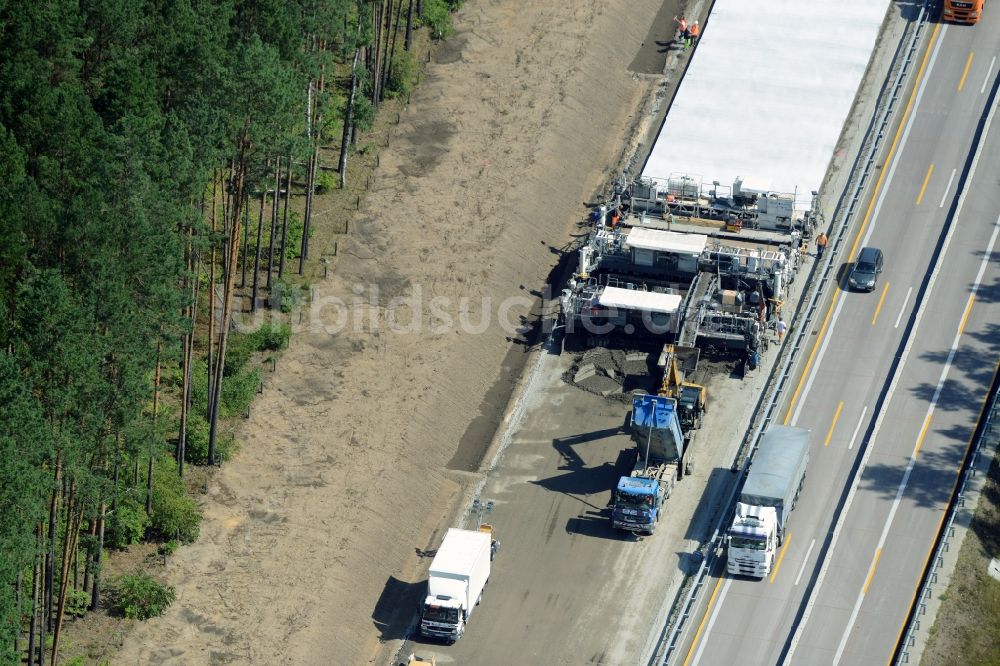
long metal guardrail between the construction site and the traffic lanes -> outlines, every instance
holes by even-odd
[[[906,29],[900,37],[889,67],[889,73],[886,76],[886,82],[879,92],[875,112],[872,114],[871,121],[865,130],[865,138],[854,161],[851,177],[845,185],[843,194],[838,200],[834,211],[834,219],[839,217],[840,221],[835,223],[831,228],[831,241],[827,248],[828,251],[823,255],[822,263],[813,268],[808,302],[805,306],[800,303],[796,310],[793,321],[801,323],[796,326],[795,335],[788,337],[779,352],[783,359],[782,363],[780,367],[776,365],[772,370],[767,383],[769,388],[765,389],[764,394],[758,402],[754,415],[751,417],[751,426],[747,428],[747,433],[733,461],[732,468],[734,471],[739,470],[739,475],[736,482],[732,485],[725,503],[722,504],[727,509],[720,513],[719,518],[712,528],[711,537],[699,548],[699,552],[702,552],[703,557],[698,571],[677,592],[673,609],[667,617],[663,632],[660,634],[660,640],[649,660],[650,666],[654,664],[666,666],[676,658],[677,647],[689,628],[688,620],[697,606],[699,594],[704,589],[712,569],[719,560],[722,546],[722,530],[732,516],[733,500],[750,468],[753,454],[757,450],[761,435],[773,422],[778,402],[784,395],[784,391],[791,379],[792,368],[796,361],[798,361],[803,343],[807,337],[806,333],[810,330],[809,325],[815,318],[827,284],[830,282],[831,277],[834,277],[831,275],[833,267],[836,265],[834,258],[840,254],[841,246],[847,238],[851,224],[854,221],[858,204],[863,201],[865,188],[868,186],[872,173],[876,170],[878,153],[892,125],[893,114],[901,99],[904,84],[915,61],[920,37],[926,26],[928,2],[929,0],[924,1],[920,7],[920,14],[915,20],[907,24]],[[895,77],[891,77],[893,72],[896,72]],[[890,78],[892,79],[891,83]],[[867,152],[864,150],[865,147],[868,148]]]

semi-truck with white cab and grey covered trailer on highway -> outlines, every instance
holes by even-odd
[[[808,430],[768,428],[751,460],[726,535],[729,573],[754,578],[771,573],[808,465]]]

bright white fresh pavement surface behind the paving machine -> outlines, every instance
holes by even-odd
[[[716,0],[643,167],[711,186],[819,190],[889,0]]]

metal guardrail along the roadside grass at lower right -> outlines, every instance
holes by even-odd
[[[907,620],[906,632],[896,645],[894,664],[910,663],[910,648],[916,644],[917,632],[921,630],[921,618],[927,612],[927,600],[934,591],[934,586],[938,582],[938,569],[944,564],[944,554],[951,548],[951,540],[955,536],[955,519],[959,509],[965,507],[965,492],[969,481],[978,472],[979,453],[984,443],[992,442],[996,445],[1000,436],[1000,368],[993,374],[993,385],[990,387],[990,394],[984,405],[982,415],[979,419],[977,432],[973,437],[973,445],[969,450],[967,462],[963,466],[961,478],[955,486],[954,494],[948,505],[948,517],[942,525],[941,532],[937,536],[937,547],[934,555],[928,560],[928,566],[924,571],[923,580],[916,596],[913,598],[913,605],[910,607],[909,618]],[[986,471],[992,463],[992,457],[986,458]]]

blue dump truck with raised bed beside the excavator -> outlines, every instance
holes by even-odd
[[[656,395],[632,399],[632,439],[636,443],[631,474],[618,480],[611,502],[611,526],[652,534],[680,477],[688,439],[681,430],[677,401]]]

